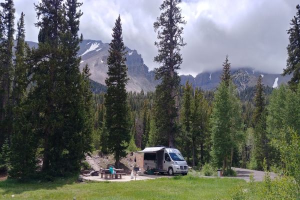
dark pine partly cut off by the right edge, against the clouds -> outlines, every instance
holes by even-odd
[[[295,85],[300,81],[300,6],[296,5],[296,16],[289,23],[291,27],[287,30],[289,34],[289,44],[287,45],[286,68],[283,69],[282,75],[293,73],[288,84],[295,89]]]

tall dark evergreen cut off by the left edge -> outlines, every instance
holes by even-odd
[[[5,0],[0,3],[1,12],[1,60],[0,60],[0,145],[4,138],[8,137],[11,131],[11,107],[10,88],[12,66],[12,46],[14,34],[14,4],[13,0]]]

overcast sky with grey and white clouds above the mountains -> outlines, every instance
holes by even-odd
[[[0,0],[3,1],[3,0]],[[26,39],[37,41],[33,3],[14,0],[16,18],[25,13]],[[80,31],[84,39],[111,40],[111,28],[120,13],[125,45],[141,53],[153,69],[156,33],[153,22],[162,0],[82,0]],[[221,68],[225,55],[232,67],[252,67],[281,73],[285,67],[290,19],[297,0],[183,0],[183,63],[180,74],[195,75]]]

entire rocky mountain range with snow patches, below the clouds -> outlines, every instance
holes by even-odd
[[[36,42],[27,41],[30,47],[37,47]],[[101,40],[84,39],[80,43],[78,56],[82,57],[80,68],[88,64],[91,72],[90,78],[93,81],[105,85],[108,66],[106,63],[108,56],[108,43]],[[136,50],[126,47],[126,65],[128,66],[128,83],[126,89],[128,91],[153,91],[158,81],[154,79],[154,71],[149,71],[148,67],[143,63],[143,59]],[[215,89],[220,81],[221,66],[217,71],[205,71],[192,75],[180,75],[181,84],[184,85],[188,80],[193,87],[201,87],[202,89]],[[261,73],[252,68],[231,69],[233,82],[236,84],[238,91],[255,85],[258,75],[262,75],[262,82],[265,86],[276,87],[279,84],[286,83],[290,80],[291,75],[281,76],[280,74]],[[95,85],[95,83],[93,84]],[[101,89],[102,90],[101,86]]]

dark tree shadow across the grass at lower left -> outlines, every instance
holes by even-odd
[[[77,178],[78,175],[54,178],[53,181],[41,181],[38,179],[20,181],[8,178],[0,181],[0,196],[8,193],[21,194],[26,191],[34,191],[39,189],[57,189],[63,185],[76,183]]]

